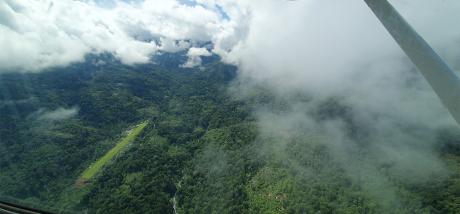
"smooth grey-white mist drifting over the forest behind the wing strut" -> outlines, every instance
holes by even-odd
[[[460,51],[452,46],[458,47],[460,31],[451,24],[460,18],[452,6],[460,4],[394,4],[458,68]],[[387,209],[408,200],[402,186],[449,175],[439,133],[458,132],[458,126],[364,2],[267,4],[249,25],[246,40],[229,54],[239,65],[231,92],[271,97],[254,109],[262,156],[308,171],[292,161],[289,147],[299,140],[323,145],[331,161]]]

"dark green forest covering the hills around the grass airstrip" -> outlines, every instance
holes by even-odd
[[[450,174],[416,184],[388,176],[401,196],[388,206],[321,139],[291,136],[278,148],[276,137],[261,136],[254,108],[283,111],[283,101],[264,88],[245,98],[229,93],[236,67],[215,56],[199,68],[178,67],[184,60],[164,54],[127,66],[102,54],[39,73],[0,74],[0,197],[64,213],[460,212],[458,130],[437,133],[442,146],[435,149]],[[324,106],[318,120],[347,121],[340,101]],[[44,116],[60,108],[77,113]],[[131,146],[86,186],[75,185],[145,120]]]

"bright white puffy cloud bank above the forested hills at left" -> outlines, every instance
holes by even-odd
[[[0,72],[40,71],[102,52],[145,63],[158,50],[212,40],[223,23],[216,11],[175,0],[117,1],[110,8],[92,1],[1,1]]]

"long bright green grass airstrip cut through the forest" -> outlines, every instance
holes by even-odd
[[[77,180],[77,185],[84,185],[87,181],[93,178],[110,160],[112,160],[123,148],[128,146],[132,143],[136,137],[144,130],[147,126],[148,122],[145,121],[135,128],[130,130],[128,134],[120,140],[115,147],[110,149],[104,156],[99,158],[96,162],[91,164],[80,176]]]

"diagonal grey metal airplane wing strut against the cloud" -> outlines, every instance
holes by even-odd
[[[460,79],[387,0],[364,0],[460,125]]]

